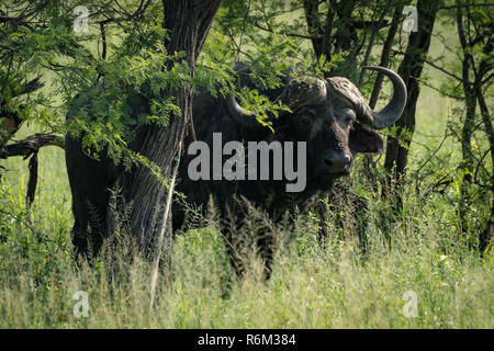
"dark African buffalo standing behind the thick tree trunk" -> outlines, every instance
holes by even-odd
[[[273,220],[296,206],[308,208],[317,195],[329,192],[338,177],[349,174],[355,152],[379,152],[383,149],[382,137],[372,129],[392,125],[402,114],[406,103],[406,87],[395,72],[382,67],[366,67],[382,72],[393,84],[393,97],[384,109],[372,111],[360,91],[346,78],[333,77],[326,80],[313,77],[294,79],[287,73],[284,86],[279,89],[260,91],[271,101],[281,101],[291,112],[272,117],[272,129],[262,126],[255,115],[243,109],[234,97],[213,98],[207,90],[201,90],[193,101],[193,131],[184,140],[184,155],[179,167],[177,190],[187,195],[187,201],[205,208],[213,199],[221,214],[221,230],[228,240],[232,262],[238,273],[243,271],[242,260],[236,257],[235,233],[242,228],[247,214],[246,201],[269,214]],[[244,65],[235,68],[240,83],[254,87],[249,71]],[[214,148],[214,136],[221,133],[222,141],[305,141],[305,184],[302,191],[288,192],[287,179],[200,179],[190,178],[189,165],[194,159],[187,152],[192,143],[204,141]],[[190,151],[190,150],[189,150]],[[282,151],[284,152],[284,151]],[[82,151],[77,139],[67,136],[67,170],[74,199],[74,244],[83,251],[91,238],[90,208],[106,217],[109,190],[119,170],[105,159],[91,160]],[[223,156],[222,161],[228,157]],[[271,159],[271,161],[274,161]],[[213,160],[210,160],[214,169]],[[293,162],[297,162],[294,160]],[[271,163],[270,163],[271,165]],[[261,165],[269,167],[270,165]],[[297,165],[303,167],[304,165]],[[175,204],[172,208],[173,228],[180,229],[187,223],[187,208]],[[269,274],[271,264],[272,237],[269,233],[257,236],[260,253]]]

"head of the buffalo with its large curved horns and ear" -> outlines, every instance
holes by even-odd
[[[291,110],[271,120],[277,138],[307,143],[307,177],[321,188],[350,173],[353,152],[382,151],[384,141],[373,129],[392,125],[405,106],[406,86],[398,75],[378,66],[363,68],[382,72],[393,83],[393,97],[379,112],[372,111],[357,87],[341,77],[325,81],[313,77],[291,79],[277,98]],[[262,128],[235,97],[226,101],[225,107],[243,126]]]

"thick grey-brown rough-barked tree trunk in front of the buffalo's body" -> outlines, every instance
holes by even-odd
[[[170,31],[166,47],[169,54],[184,52],[184,60],[194,75],[194,67],[204,39],[222,0],[162,0],[165,12],[164,27]],[[173,63],[169,63],[171,67]],[[192,90],[182,88],[165,92],[176,99],[181,116],[170,116],[168,126],[144,126],[136,139],[141,155],[146,156],[161,169],[165,178],[170,179],[172,160],[182,143],[186,126],[192,114]],[[160,204],[167,189],[145,167],[125,172],[119,179],[125,203],[132,204],[130,226],[139,248],[149,253],[153,239],[159,226],[157,220]],[[173,191],[173,189],[168,189]]]

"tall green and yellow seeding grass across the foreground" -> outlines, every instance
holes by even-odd
[[[493,256],[480,258],[458,235],[454,211],[439,196],[407,196],[395,220],[380,217],[382,203],[370,201],[364,251],[351,208],[330,214],[324,246],[314,215],[299,215],[293,233],[276,230],[269,282],[255,254],[244,279],[233,275],[214,225],[189,230],[176,238],[149,313],[150,263],[126,237],[109,244],[92,267],[78,263],[64,191],[36,203],[30,223],[24,188],[1,185],[8,230],[0,244],[0,328],[493,327]],[[77,291],[88,293],[88,317],[74,315]],[[417,295],[415,318],[404,315],[407,291]]]

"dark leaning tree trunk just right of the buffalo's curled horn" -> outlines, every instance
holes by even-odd
[[[400,64],[398,75],[405,81],[408,97],[402,117],[395,123],[396,138],[388,137],[388,148],[384,160],[386,170],[386,192],[400,188],[403,181],[408,159],[408,147],[415,131],[415,111],[419,94],[419,77],[424,68],[424,59],[430,45],[430,37],[438,10],[438,0],[419,0],[417,3],[418,30],[412,32],[408,38],[405,56]],[[397,139],[403,139],[401,146]],[[394,185],[391,185],[393,183]],[[396,194],[397,208],[402,207],[401,195]]]

